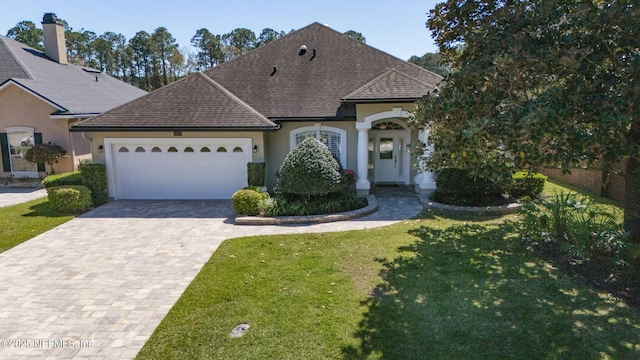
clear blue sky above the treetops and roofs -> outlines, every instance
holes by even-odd
[[[340,32],[355,30],[367,44],[407,60],[412,55],[435,52],[426,28],[426,13],[435,0],[0,0],[0,33],[22,20],[41,26],[42,15],[53,12],[76,31],[84,28],[98,35],[113,31],[130,39],[137,31],[166,27],[181,47],[190,46],[197,29],[225,34],[238,27],[253,30],[299,29],[312,22]]]

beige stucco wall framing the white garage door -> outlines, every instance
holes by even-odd
[[[253,153],[253,162],[265,161],[265,141],[264,133],[252,131],[229,131],[229,132],[190,132],[183,131],[182,136],[174,136],[173,132],[157,131],[157,132],[93,132],[86,134],[87,137],[91,137],[91,152],[93,154],[93,161],[96,163],[104,164],[105,154],[104,149],[99,149],[100,146],[104,146],[104,139],[106,138],[251,138],[252,146],[257,145],[258,151]]]

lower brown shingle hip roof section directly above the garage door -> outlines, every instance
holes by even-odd
[[[276,129],[277,125],[202,73],[164,86],[74,130]]]

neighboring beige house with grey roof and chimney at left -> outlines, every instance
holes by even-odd
[[[146,94],[98,70],[67,64],[62,24],[46,14],[42,25],[44,53],[0,36],[0,178],[42,175],[45,169],[23,156],[47,142],[68,155],[55,171],[74,170],[91,158],[91,147],[69,125]]]

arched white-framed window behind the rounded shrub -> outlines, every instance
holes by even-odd
[[[312,137],[327,145],[329,151],[342,163],[347,165],[347,132],[332,126],[305,126],[289,133],[290,148],[293,149],[302,140]]]

